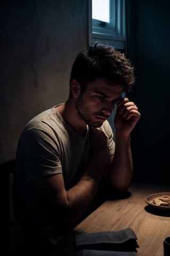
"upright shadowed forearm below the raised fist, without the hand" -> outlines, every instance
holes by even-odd
[[[108,175],[114,189],[128,190],[133,175],[130,137],[116,138],[114,159],[109,167]]]

